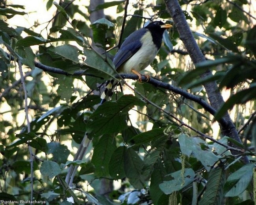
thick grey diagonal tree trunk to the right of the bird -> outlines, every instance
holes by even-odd
[[[193,37],[189,25],[187,24],[186,17],[184,15],[182,8],[180,7],[180,4],[178,3],[178,0],[165,0],[165,4],[169,13],[173,17],[173,22],[176,25],[177,31],[180,34],[180,39],[183,41],[184,46],[188,54],[190,55],[193,63],[197,64],[202,61],[206,61],[199,46],[197,45],[197,42],[195,41],[195,38]],[[201,75],[201,78],[205,78],[206,76],[211,75],[211,71],[206,70],[206,72]],[[223,97],[221,96],[221,92],[218,89],[217,83],[215,81],[205,83],[204,88],[208,95],[208,99],[210,101],[211,106],[216,110],[219,109],[219,106],[224,103],[224,100]],[[234,123],[232,122],[230,115],[226,113],[223,118],[225,119],[226,123],[218,121],[221,127],[222,134],[224,136],[226,135],[228,137],[231,137],[232,139],[235,139],[241,143],[236,127],[234,126]],[[235,145],[232,144],[232,146]],[[233,154],[236,153],[233,152]],[[245,163],[249,163],[248,157],[244,157],[243,160]]]

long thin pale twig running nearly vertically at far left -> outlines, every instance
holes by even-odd
[[[30,129],[30,121],[28,118],[28,93],[27,93],[27,89],[26,89],[26,85],[25,85],[25,78],[23,75],[23,71],[22,71],[22,64],[20,61],[18,61],[18,66],[19,66],[19,71],[20,71],[20,79],[21,79],[21,84],[23,87],[23,91],[24,91],[24,101],[25,101],[25,116],[26,116],[26,120],[27,120],[27,126],[28,126],[28,133],[30,133],[31,129]],[[34,157],[33,157],[33,151],[32,151],[32,147],[28,146],[28,150],[30,152],[30,188],[31,188],[31,197],[30,197],[30,205],[33,205],[33,174],[34,174],[34,170],[33,170],[33,161],[34,161]]]

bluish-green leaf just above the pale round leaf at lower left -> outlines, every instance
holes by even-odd
[[[53,160],[58,163],[65,163],[70,154],[67,146],[60,144],[59,142],[50,142],[48,145],[48,154],[53,155]]]

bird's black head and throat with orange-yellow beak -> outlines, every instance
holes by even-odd
[[[163,32],[171,27],[171,24],[164,24],[161,21],[154,21],[145,26],[151,32],[153,42],[158,49],[160,49],[162,43]]]

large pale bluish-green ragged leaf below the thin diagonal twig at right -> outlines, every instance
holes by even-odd
[[[191,154],[196,157],[202,165],[204,165],[207,171],[210,171],[211,166],[219,160],[219,158],[211,152],[211,149],[202,150],[201,144],[207,144],[204,140],[197,137],[187,137],[185,134],[181,134],[178,137],[180,150],[187,156]],[[189,147],[189,149],[188,149]]]

